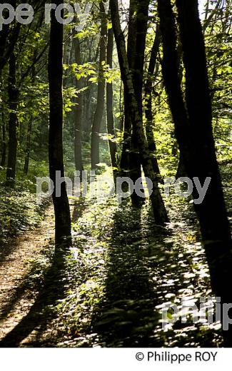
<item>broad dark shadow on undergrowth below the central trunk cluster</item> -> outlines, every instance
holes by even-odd
[[[126,224],[122,223],[121,213],[126,210],[114,215],[106,295],[93,327],[106,347],[146,347],[158,323],[158,315],[153,310],[157,301],[144,264],[148,251],[141,245],[140,210],[133,210],[132,215],[131,210],[127,210]],[[162,340],[154,342],[154,346],[161,345]]]

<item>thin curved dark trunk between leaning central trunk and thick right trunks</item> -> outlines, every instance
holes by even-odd
[[[152,87],[153,81],[156,79],[158,71],[157,68],[157,57],[158,57],[158,49],[161,44],[161,31],[159,25],[156,28],[156,36],[153,41],[153,46],[151,49],[151,57],[148,66],[148,78],[146,79],[146,83],[144,86],[144,93],[145,93],[145,116],[146,116],[146,138],[148,141],[148,149],[150,151],[151,161],[153,163],[153,169],[157,174],[157,177],[160,178],[161,183],[163,183],[161,179],[161,172],[158,168],[158,161],[156,158],[156,141],[154,138],[153,133],[153,114],[152,114]]]

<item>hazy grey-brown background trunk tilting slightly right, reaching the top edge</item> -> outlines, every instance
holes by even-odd
[[[104,101],[106,91],[106,79],[104,77],[104,63],[106,63],[106,39],[107,39],[107,16],[104,3],[99,4],[101,11],[101,42],[100,42],[100,56],[99,56],[99,80],[98,93],[96,102],[96,111],[94,113],[94,122],[91,132],[91,168],[94,170],[96,164],[100,161],[99,155],[99,133],[101,130],[101,121],[104,114]]]

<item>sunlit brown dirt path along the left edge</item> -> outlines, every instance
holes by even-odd
[[[0,340],[29,312],[35,295],[24,286],[32,260],[54,238],[53,206],[46,209],[39,228],[19,238],[9,238],[0,248]]]

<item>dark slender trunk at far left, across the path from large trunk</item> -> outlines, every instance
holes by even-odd
[[[6,185],[14,186],[16,176],[16,158],[18,147],[18,119],[19,89],[16,86],[16,57],[14,53],[9,59],[9,146],[6,170]]]

